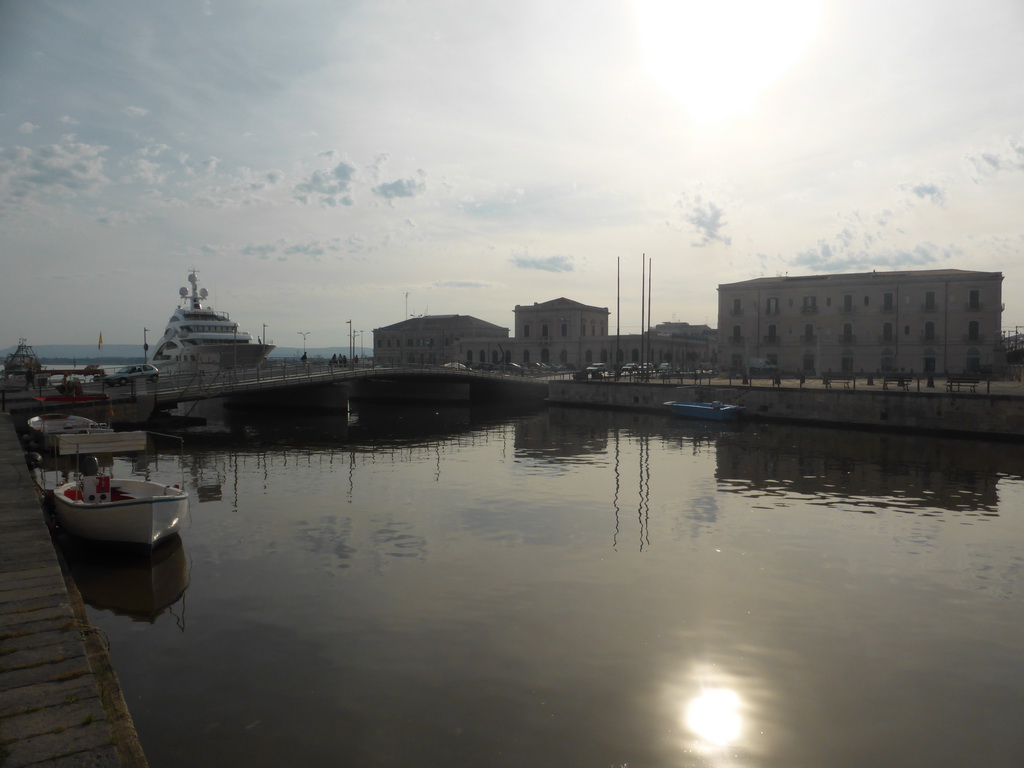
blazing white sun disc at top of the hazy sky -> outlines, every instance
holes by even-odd
[[[697,122],[749,114],[817,32],[821,0],[634,0],[648,76]]]

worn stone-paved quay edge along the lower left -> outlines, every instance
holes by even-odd
[[[102,638],[65,581],[5,413],[0,483],[0,766],[145,766]]]

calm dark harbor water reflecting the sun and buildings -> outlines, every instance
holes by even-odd
[[[1024,762],[1024,446],[212,416],[180,542],[72,553],[154,768]]]

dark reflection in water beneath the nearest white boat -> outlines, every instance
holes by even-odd
[[[60,547],[82,599],[94,608],[153,624],[183,602],[188,561],[175,534],[152,551],[97,546],[61,537]],[[183,618],[177,618],[183,626]]]

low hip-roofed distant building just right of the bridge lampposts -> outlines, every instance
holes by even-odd
[[[382,365],[439,366],[461,358],[464,338],[508,336],[509,329],[468,314],[427,314],[374,329],[374,357]]]

